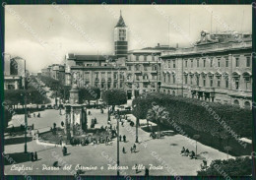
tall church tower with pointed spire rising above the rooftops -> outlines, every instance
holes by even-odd
[[[114,54],[117,58],[126,57],[128,51],[127,27],[124,23],[122,12],[114,28]]]

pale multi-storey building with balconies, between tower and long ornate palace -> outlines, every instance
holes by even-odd
[[[144,92],[158,91],[160,83],[160,52],[174,50],[160,45],[128,52],[126,90],[128,98]]]

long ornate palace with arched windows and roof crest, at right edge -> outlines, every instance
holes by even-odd
[[[196,45],[162,52],[160,59],[160,91],[251,107],[251,34],[203,30]]]

